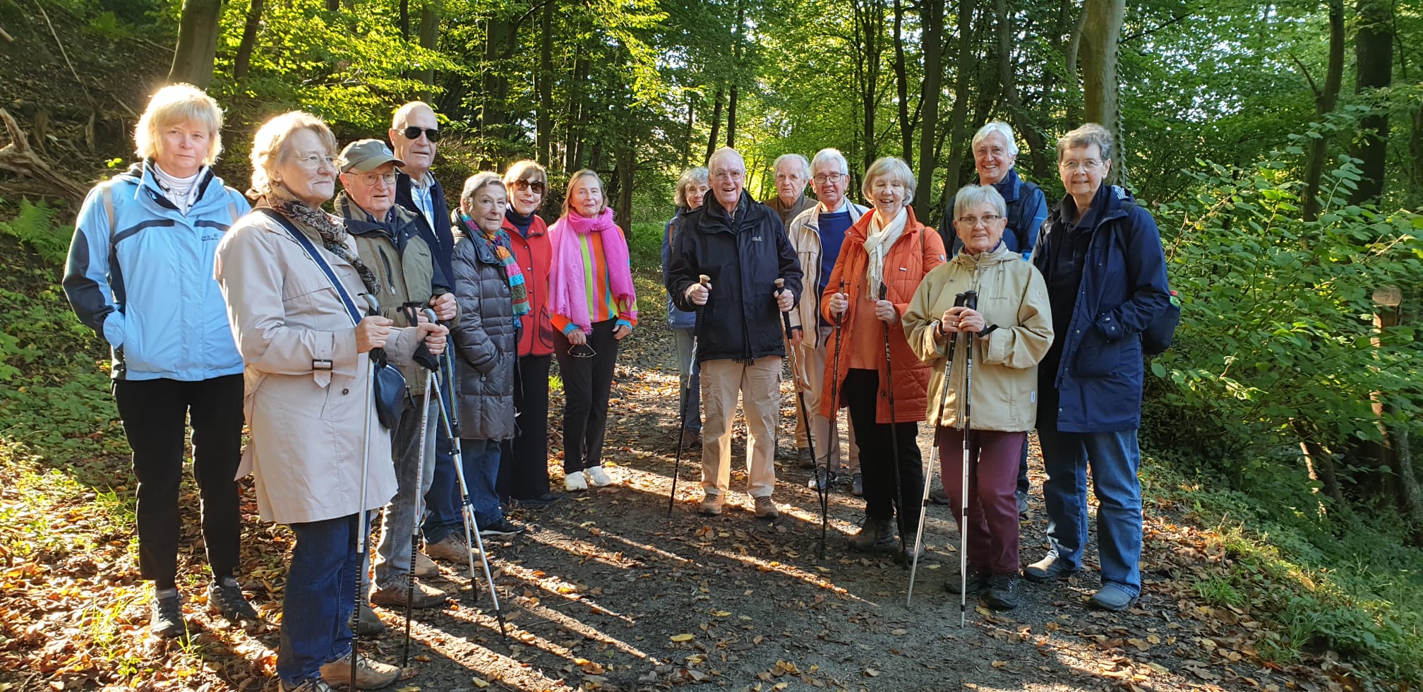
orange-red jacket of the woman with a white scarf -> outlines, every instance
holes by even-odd
[[[894,303],[901,318],[909,308],[914,290],[919,288],[924,275],[929,273],[929,269],[943,263],[943,239],[932,228],[919,224],[914,218],[914,209],[906,211],[909,219],[904,225],[904,235],[895,241],[894,246],[885,255],[884,271],[885,283],[889,288],[887,298]],[[821,313],[834,325],[835,316],[830,313],[830,296],[840,290],[841,281],[845,282],[845,293],[850,295],[850,309],[845,312],[841,320],[842,326],[840,327],[842,329],[842,333],[838,336],[841,345],[840,363],[837,366],[834,350],[831,350],[831,357],[825,359],[825,379],[822,380],[825,387],[824,394],[830,394],[830,387],[834,386],[840,393],[840,400],[834,402],[830,396],[821,396],[820,414],[825,417],[834,416],[835,409],[850,404],[845,399],[845,373],[850,372],[851,330],[855,323],[854,312],[855,306],[859,305],[861,293],[865,292],[865,273],[869,263],[869,253],[865,252],[865,236],[869,232],[869,221],[874,216],[875,212],[859,216],[859,221],[845,232],[845,243],[840,248],[840,258],[835,259],[835,268],[830,272],[830,282],[820,298]],[[830,336],[827,342],[830,343],[830,349],[834,349],[835,337],[835,335]],[[889,394],[887,387],[889,377],[885,373],[884,356],[878,353],[877,356],[879,363],[879,402],[875,406],[875,421],[889,423]],[[889,325],[889,357],[894,360],[895,423],[924,420],[924,414],[928,410],[929,376],[933,370],[909,349],[902,322]],[[837,374],[840,376],[840,382],[835,382]]]

